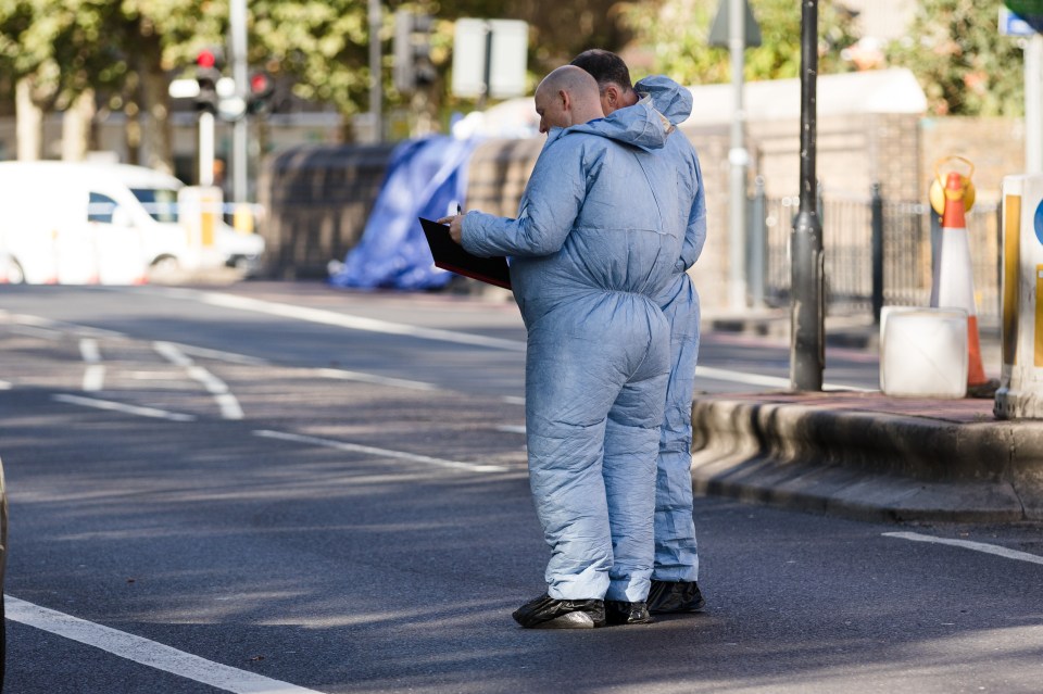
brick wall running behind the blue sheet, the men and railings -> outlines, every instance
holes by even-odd
[[[821,118],[817,174],[824,199],[868,202],[871,185],[879,182],[888,201],[926,201],[933,162],[962,154],[976,165],[979,200],[994,202],[1003,176],[1022,166],[1020,124],[1020,119],[923,119],[907,114]],[[681,134],[699,152],[706,194],[707,241],[692,276],[704,307],[714,311],[727,305],[729,128],[727,124],[701,126],[682,128]],[[542,137],[479,146],[468,168],[467,207],[514,216],[542,147]],[[759,175],[769,198],[799,193],[797,121],[751,122],[747,147],[751,192]],[[343,258],[365,227],[391,149],[390,144],[300,147],[268,160],[260,185],[261,201],[269,212],[262,227],[268,244],[268,276],[325,276],[329,260]],[[784,234],[792,220],[771,222]]]

